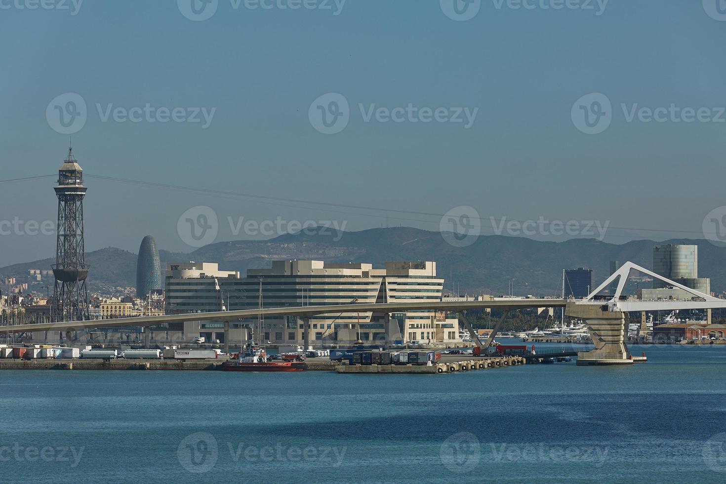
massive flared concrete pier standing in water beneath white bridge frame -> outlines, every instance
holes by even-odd
[[[632,365],[635,361],[625,344],[625,313],[608,311],[607,305],[568,303],[567,316],[584,319],[595,349],[577,353],[579,365]]]

